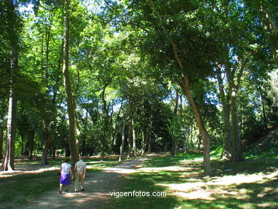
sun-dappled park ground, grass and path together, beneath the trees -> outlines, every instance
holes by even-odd
[[[8,200],[6,205],[4,202],[0,208],[278,208],[277,153],[275,156],[269,159],[250,158],[238,163],[212,158],[214,175],[205,177],[201,153],[180,153],[175,157],[151,154],[114,164],[113,167],[104,166],[101,171],[90,171],[86,175],[84,192],[73,193],[73,180],[69,193],[62,194],[58,193],[57,166],[41,169],[39,165],[23,163],[16,167],[21,170],[12,173],[0,172],[0,190],[3,189],[2,185],[6,186],[6,197],[1,197],[0,193],[0,200]],[[115,160],[115,156],[113,159]],[[87,167],[97,163],[86,162]],[[36,176],[42,175],[43,178],[32,179],[30,177],[35,176],[32,173],[38,173]],[[25,183],[28,181],[27,185],[30,185],[30,193],[35,197],[34,188],[31,186],[36,184],[35,190],[39,195],[20,203],[15,195],[21,193],[13,192],[18,190],[23,177],[22,180],[25,180]],[[47,188],[50,186],[50,178],[52,185]],[[43,183],[40,179],[45,181],[44,185],[41,185]],[[41,187],[38,188],[38,185]],[[167,196],[111,196],[113,192],[134,190],[163,191]]]

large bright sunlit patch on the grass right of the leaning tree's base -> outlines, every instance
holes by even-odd
[[[167,188],[170,193],[181,198],[186,199],[204,199],[217,200],[218,195],[222,197],[234,196],[234,198],[245,199],[248,198],[249,190],[247,188],[237,188],[237,185],[246,185],[249,183],[263,184],[278,178],[278,170],[273,173],[255,173],[255,174],[237,174],[225,175],[222,177],[213,177],[209,180],[189,179],[186,183],[157,183],[158,186]],[[270,191],[272,187],[265,187],[257,198],[263,198]],[[276,190],[277,192],[278,190]]]

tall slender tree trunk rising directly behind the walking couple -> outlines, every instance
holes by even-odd
[[[63,45],[63,80],[66,91],[66,101],[68,106],[68,144],[71,151],[71,161],[73,165],[78,161],[79,155],[79,143],[76,138],[76,116],[75,116],[75,105],[73,101],[73,93],[71,91],[71,80],[68,71],[68,51],[69,51],[69,30],[70,30],[70,21],[69,21],[69,5],[70,0],[66,0],[65,4],[65,31],[64,31],[64,45]]]

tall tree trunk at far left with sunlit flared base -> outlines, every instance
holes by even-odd
[[[8,34],[11,45],[11,82],[14,81],[15,73],[18,70],[18,47],[16,29],[14,21],[16,20],[16,11],[12,0],[6,0],[7,18],[9,21]],[[6,126],[6,146],[4,160],[0,170],[14,170],[14,142],[16,138],[16,109],[17,99],[14,96],[14,89],[11,83],[9,90],[9,108]]]

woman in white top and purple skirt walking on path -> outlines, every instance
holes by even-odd
[[[65,159],[65,163],[62,163],[60,166],[60,190],[59,193],[62,193],[62,186],[65,185],[66,190],[68,192],[68,185],[71,184],[71,180],[73,180],[73,172],[71,171],[71,164],[68,163],[68,158]],[[71,180],[70,180],[71,173]]]

